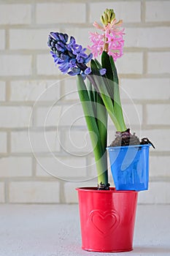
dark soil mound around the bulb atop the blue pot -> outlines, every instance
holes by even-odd
[[[155,148],[148,138],[142,138],[140,141],[135,135],[135,132],[133,135],[131,134],[130,129],[127,129],[125,132],[116,132],[115,137],[116,138],[112,141],[110,147],[151,144],[152,147]]]

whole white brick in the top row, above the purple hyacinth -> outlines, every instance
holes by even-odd
[[[85,4],[37,4],[36,23],[85,23]]]

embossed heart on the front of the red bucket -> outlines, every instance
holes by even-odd
[[[116,211],[93,210],[90,212],[90,222],[103,236],[107,236],[119,224],[119,215]]]

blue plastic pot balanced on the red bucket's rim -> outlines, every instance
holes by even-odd
[[[117,190],[147,190],[150,144],[108,147],[112,176]]]

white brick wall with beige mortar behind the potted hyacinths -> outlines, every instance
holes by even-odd
[[[96,168],[76,78],[55,67],[47,36],[63,31],[87,47],[105,8],[125,26],[116,65],[126,124],[156,147],[150,191],[139,193],[139,203],[170,203],[170,0],[1,1],[0,203],[76,203],[75,187],[96,186],[96,178],[82,182]],[[114,138],[109,121],[108,144]]]

